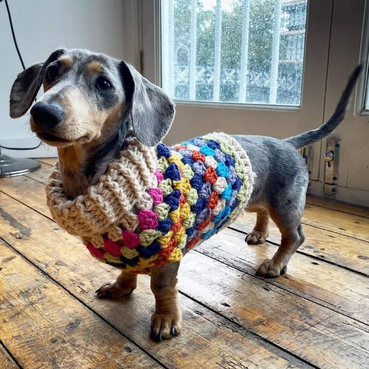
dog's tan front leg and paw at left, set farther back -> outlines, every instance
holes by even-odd
[[[121,272],[114,281],[104,283],[98,290],[98,297],[122,297],[133,292],[137,287],[137,274]]]

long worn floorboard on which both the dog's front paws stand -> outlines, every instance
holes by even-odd
[[[181,297],[183,333],[160,345],[152,342],[148,333],[154,300],[147,277],[139,277],[138,288],[129,297],[97,299],[94,290],[114,278],[117,270],[91,258],[77,238],[26,206],[4,194],[0,204],[0,237],[165,366],[191,368],[196,362],[197,367],[218,368],[230,360],[250,368],[308,366],[185,296]]]

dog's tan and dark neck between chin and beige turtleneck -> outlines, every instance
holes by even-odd
[[[108,134],[107,138],[58,148],[59,170],[69,198],[85,195],[88,187],[99,180],[122,149],[128,130],[127,120],[119,129]]]

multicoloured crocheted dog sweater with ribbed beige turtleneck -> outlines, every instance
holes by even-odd
[[[46,188],[55,221],[100,261],[132,273],[178,262],[233,222],[253,188],[250,160],[225,133],[174,146],[129,137],[86,195],[69,200],[58,163]]]

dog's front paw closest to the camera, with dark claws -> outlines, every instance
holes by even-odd
[[[181,318],[178,314],[152,314],[150,334],[154,341],[174,337],[180,333],[180,330]]]

